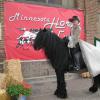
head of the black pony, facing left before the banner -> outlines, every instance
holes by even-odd
[[[34,40],[34,44],[33,47],[35,50],[40,50],[41,48],[44,48],[45,45],[45,40],[47,37],[47,32],[49,32],[49,30],[47,29],[40,29],[40,31],[38,32],[35,40]]]

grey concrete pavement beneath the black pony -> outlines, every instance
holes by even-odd
[[[69,78],[68,78],[69,77]],[[56,77],[28,80],[32,84],[32,95],[28,100],[62,100],[53,95],[56,89]],[[88,91],[92,84],[91,79],[82,79],[78,74],[67,75],[68,98],[65,100],[100,100],[100,90],[92,94]]]

